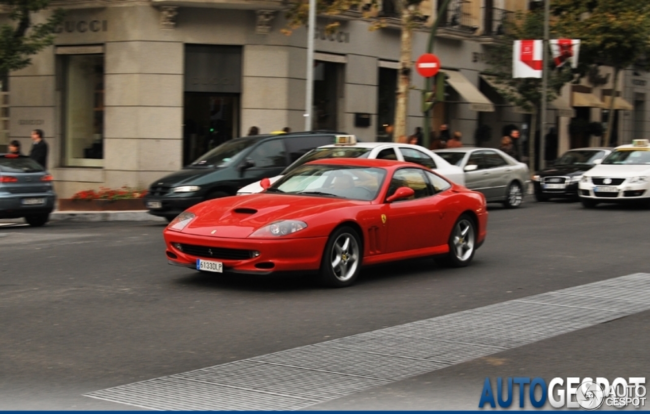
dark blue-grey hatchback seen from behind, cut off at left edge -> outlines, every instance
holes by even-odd
[[[0,219],[25,217],[30,226],[47,223],[57,195],[52,176],[31,158],[0,154]]]

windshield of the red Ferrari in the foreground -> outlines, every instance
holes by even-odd
[[[305,164],[266,191],[371,201],[377,197],[385,176],[383,168]]]

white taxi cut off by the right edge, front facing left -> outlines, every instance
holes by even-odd
[[[582,206],[599,202],[642,202],[650,207],[650,143],[634,140],[616,147],[582,176],[578,184]]]

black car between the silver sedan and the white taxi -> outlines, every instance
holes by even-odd
[[[552,198],[578,199],[578,182],[582,174],[612,152],[611,148],[578,148],[565,152],[551,167],[538,171],[532,182],[537,201]]]

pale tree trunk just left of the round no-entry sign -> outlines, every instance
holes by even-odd
[[[408,95],[411,88],[411,49],[412,32],[411,10],[406,2],[402,3],[402,42],[400,45],[400,70],[397,82],[397,103],[395,105],[395,129],[393,141],[407,136],[406,119],[408,117]],[[402,138],[404,140],[404,138]]]

